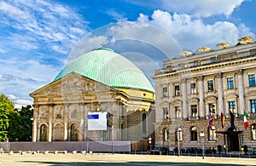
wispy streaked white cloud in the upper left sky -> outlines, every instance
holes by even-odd
[[[9,41],[15,43],[15,45],[9,45],[15,49],[38,49],[38,45],[41,48],[43,45],[52,49],[51,43],[61,43],[59,45],[62,49],[53,50],[67,54],[88,29],[88,22],[84,21],[74,9],[47,1],[0,1],[0,16],[3,18],[0,24],[2,28],[4,26],[7,28],[6,33],[9,33],[8,27],[19,30],[9,33],[9,38],[11,38]],[[34,40],[17,37],[21,36],[20,34],[23,37],[33,37]],[[0,40],[0,43],[3,42],[6,42],[5,38]],[[63,52],[63,50],[66,51]]]

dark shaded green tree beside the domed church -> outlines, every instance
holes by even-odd
[[[9,115],[9,140],[32,140],[32,106],[22,106],[21,111],[15,110]]]

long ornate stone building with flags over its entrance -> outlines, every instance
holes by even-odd
[[[156,146],[256,147],[256,43],[184,55],[156,70]],[[244,111],[249,127],[244,129]],[[235,115],[235,127],[230,124]],[[224,129],[221,113],[226,117]],[[209,116],[213,116],[212,128]]]

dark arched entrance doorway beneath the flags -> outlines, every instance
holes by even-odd
[[[228,131],[233,131],[233,128],[228,129]],[[230,132],[227,135],[228,148],[229,151],[239,151],[239,137],[237,132]]]

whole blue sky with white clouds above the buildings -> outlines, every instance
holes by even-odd
[[[15,104],[79,54],[114,49],[148,76],[181,50],[256,34],[253,0],[0,0],[0,93]]]

